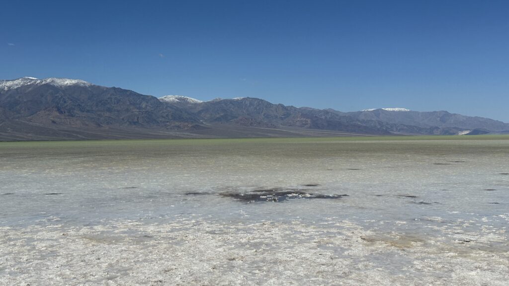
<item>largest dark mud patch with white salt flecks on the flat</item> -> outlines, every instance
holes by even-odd
[[[341,198],[344,196],[348,196],[348,194],[317,194],[317,193],[307,193],[299,190],[273,190],[269,191],[264,190],[254,190],[252,192],[222,192],[219,195],[223,197],[231,197],[237,199],[238,201],[243,201],[246,203],[255,203],[255,202],[284,202],[294,198]]]

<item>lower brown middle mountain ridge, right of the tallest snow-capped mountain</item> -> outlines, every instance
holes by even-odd
[[[162,100],[162,99],[161,99]],[[318,130],[335,130],[363,134],[435,134],[453,135],[463,129],[385,122],[369,118],[356,118],[347,112],[333,109],[297,108],[273,104],[259,98],[215,99],[211,101],[168,102],[186,109],[208,124],[285,128],[298,127]]]

